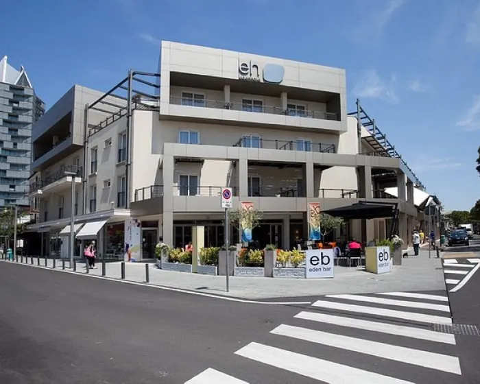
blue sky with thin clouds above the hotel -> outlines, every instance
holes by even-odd
[[[160,40],[346,69],[355,99],[446,209],[480,198],[480,0],[3,0],[0,56],[51,106],[156,71]],[[19,28],[21,25],[21,28]],[[13,33],[14,32],[14,33]],[[5,37],[5,35],[4,35]]]

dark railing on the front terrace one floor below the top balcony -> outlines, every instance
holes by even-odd
[[[259,149],[283,149],[285,151],[323,152],[328,154],[336,153],[335,144],[311,143],[310,141],[284,141],[256,137],[242,137],[233,146]]]

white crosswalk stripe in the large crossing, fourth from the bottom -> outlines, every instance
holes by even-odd
[[[366,331],[374,331],[380,333],[388,333],[389,335],[398,335],[405,337],[413,337],[413,339],[422,339],[435,341],[437,343],[455,344],[455,335],[448,333],[440,333],[430,331],[424,328],[413,328],[410,326],[400,326],[381,322],[370,322],[367,320],[352,319],[351,317],[340,317],[326,315],[325,313],[313,313],[302,311],[294,317],[303,320],[311,320],[313,322],[322,322],[337,326],[348,326],[350,328],[358,328]]]

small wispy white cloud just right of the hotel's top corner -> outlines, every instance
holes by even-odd
[[[353,88],[353,93],[357,97],[365,97],[371,99],[382,99],[392,104],[398,103],[398,97],[395,93],[396,75],[392,74],[390,80],[385,82],[379,74],[370,69],[365,71],[363,76]]]

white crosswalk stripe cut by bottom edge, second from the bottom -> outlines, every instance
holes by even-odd
[[[352,383],[352,380],[355,380],[356,384],[413,384],[410,381],[258,343],[250,343],[235,354],[330,384]]]

